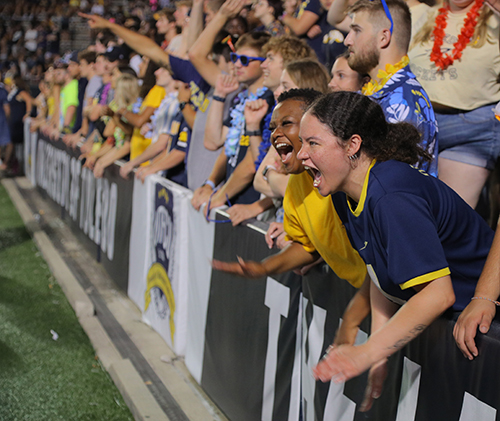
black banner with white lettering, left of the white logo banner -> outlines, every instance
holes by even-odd
[[[115,164],[96,179],[78,156],[61,140],[39,135],[36,185],[61,207],[64,220],[86,249],[93,255],[98,252],[106,271],[127,291],[133,180],[121,178]]]

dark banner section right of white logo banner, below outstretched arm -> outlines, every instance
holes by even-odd
[[[260,232],[216,227],[215,259],[271,253]],[[248,280],[213,271],[201,385],[229,419],[298,419],[300,284],[292,273]]]

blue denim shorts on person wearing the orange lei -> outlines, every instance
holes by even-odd
[[[500,155],[495,104],[457,114],[436,114],[439,157],[493,170]]]

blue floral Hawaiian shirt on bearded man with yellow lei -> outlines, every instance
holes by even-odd
[[[427,93],[420,85],[410,66],[396,72],[382,89],[370,96],[379,103],[389,123],[405,121],[413,124],[422,134],[422,147],[433,160],[420,166],[425,172],[437,177],[438,127],[434,110]]]

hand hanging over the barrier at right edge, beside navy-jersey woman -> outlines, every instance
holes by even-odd
[[[479,355],[474,341],[477,329],[487,333],[495,314],[495,304],[487,300],[473,300],[462,311],[453,328],[453,336],[464,357],[472,360]]]

